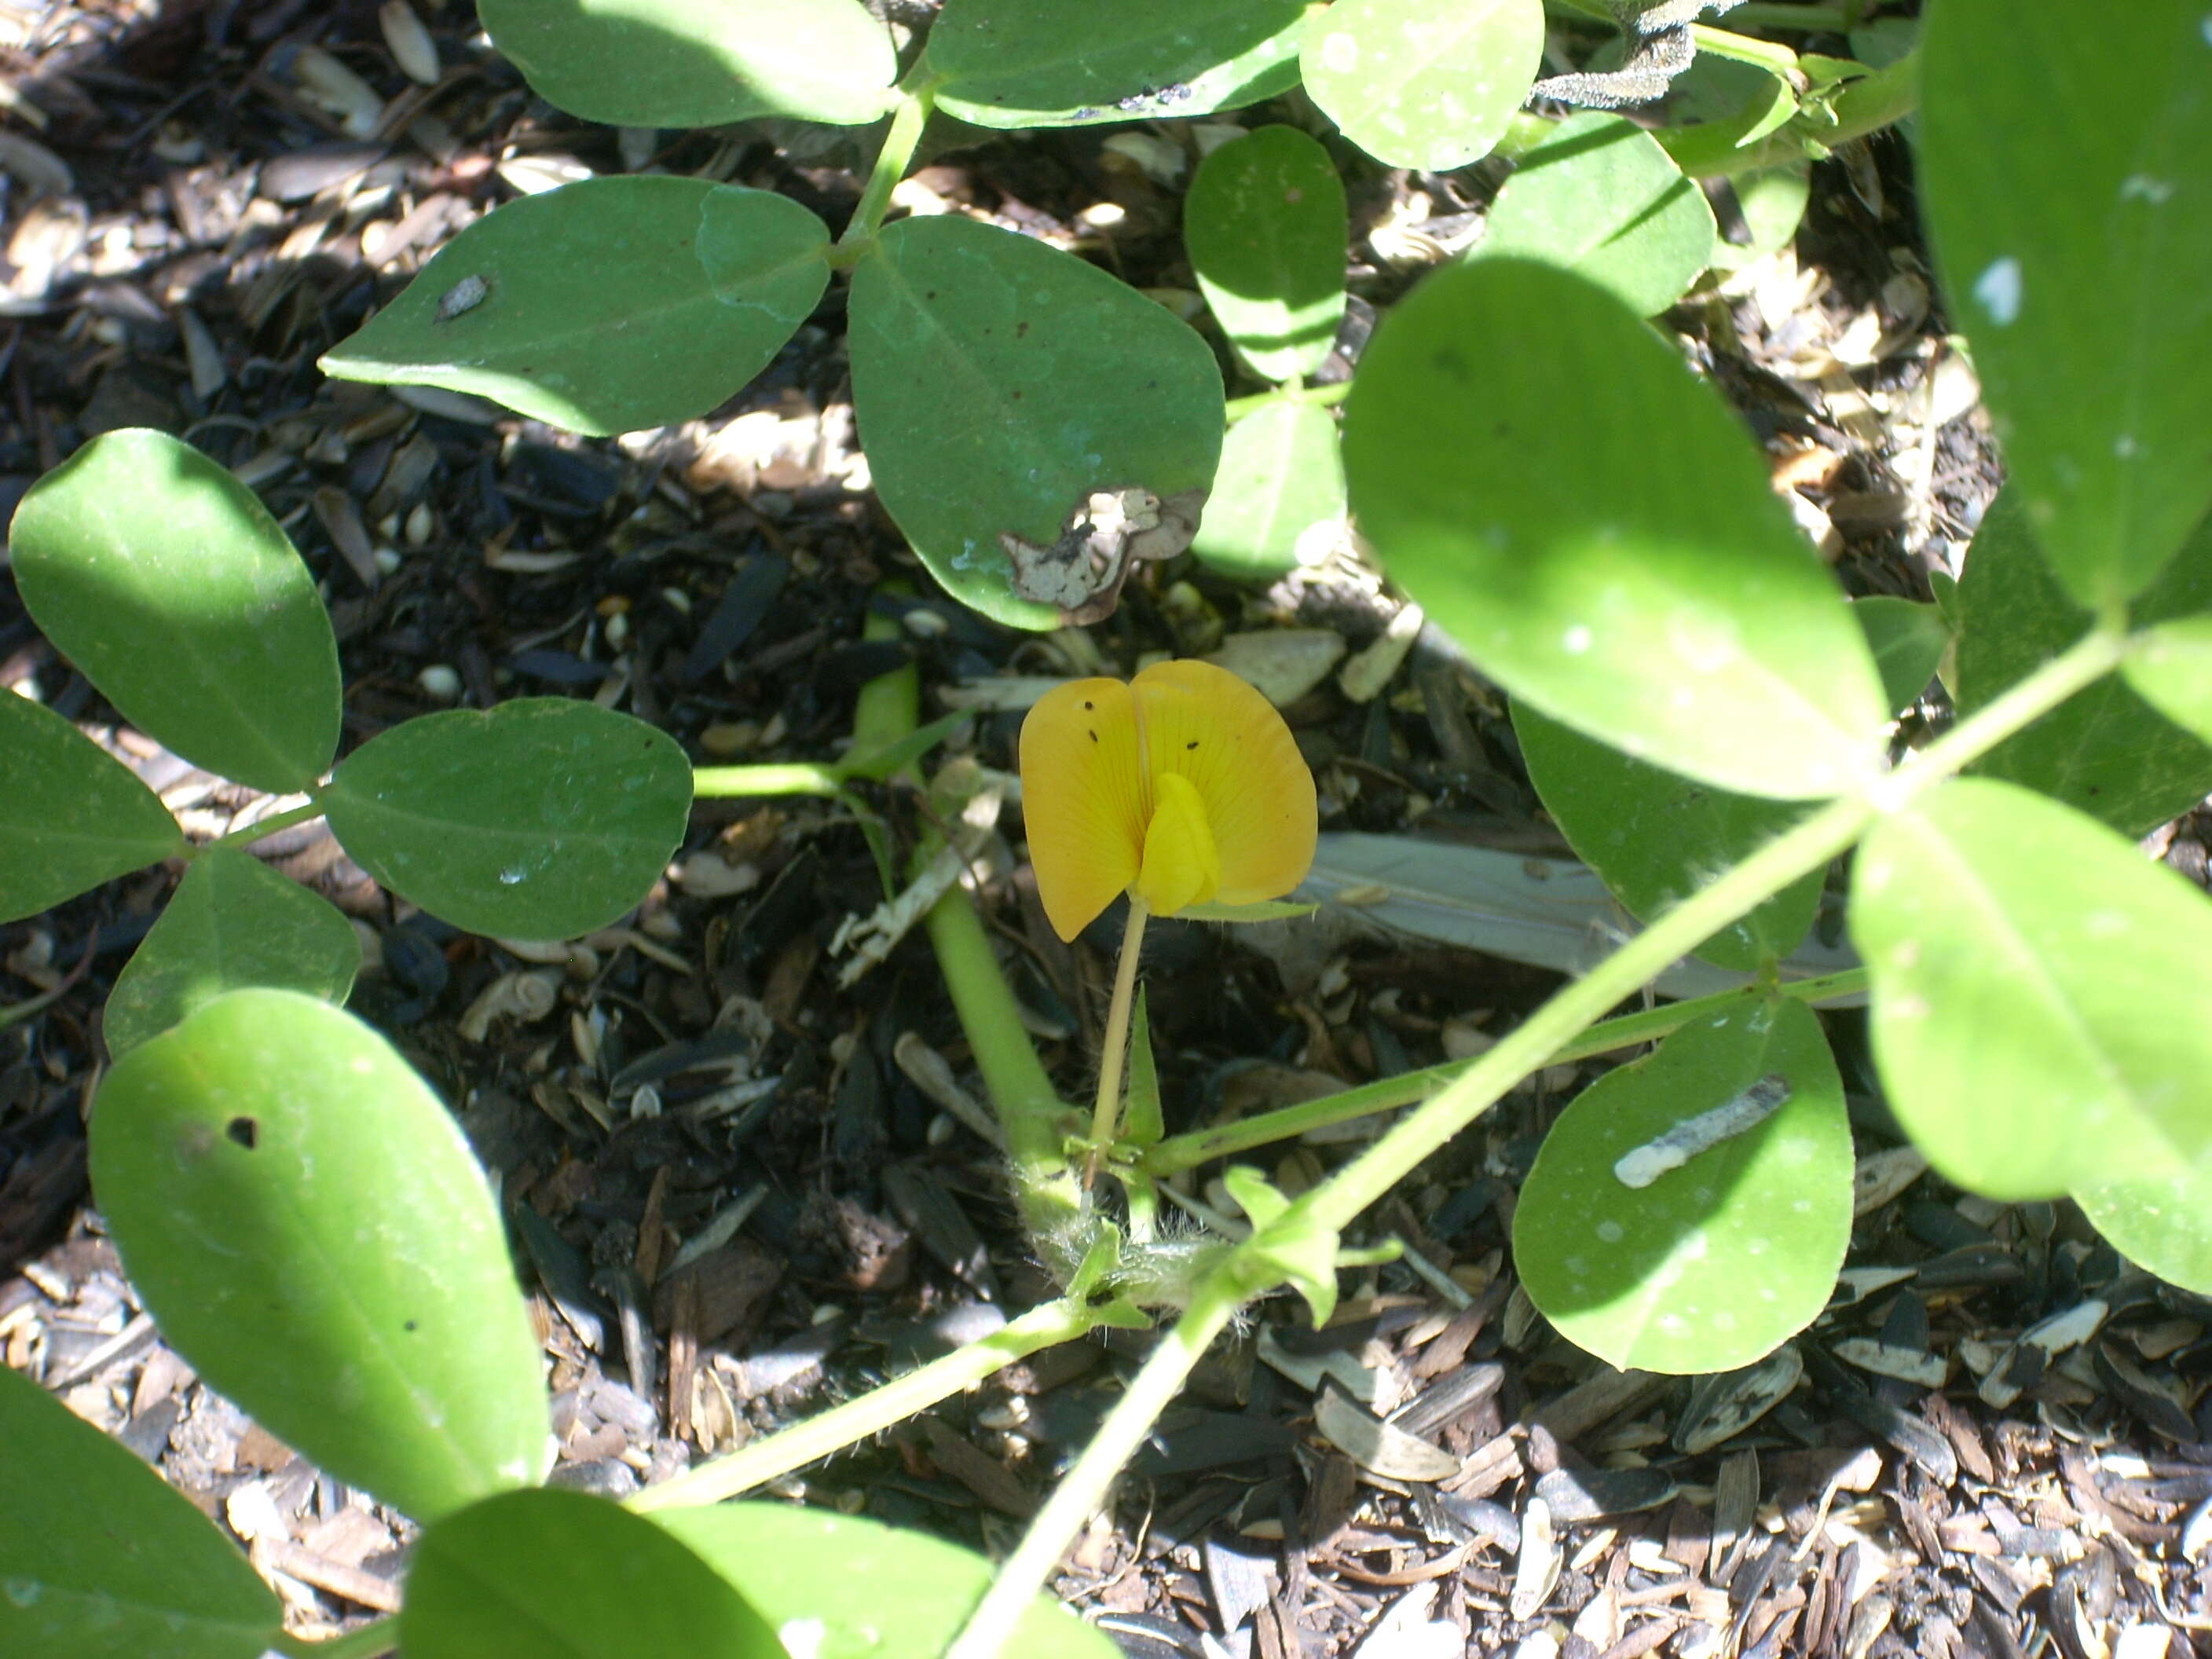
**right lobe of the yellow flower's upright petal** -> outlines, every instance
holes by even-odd
[[[1223,905],[1281,898],[1314,865],[1314,774],[1290,726],[1250,681],[1166,661],[1130,686],[1150,774],[1190,779],[1221,856]],[[1197,900],[1192,900],[1197,902]]]

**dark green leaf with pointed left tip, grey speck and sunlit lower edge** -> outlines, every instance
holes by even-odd
[[[462,230],[321,367],[593,436],[664,427],[768,367],[830,285],[827,250],[823,221],[772,190],[582,179]]]

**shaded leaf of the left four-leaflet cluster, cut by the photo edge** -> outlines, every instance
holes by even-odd
[[[93,739],[0,690],[0,922],[184,852],[161,796]]]

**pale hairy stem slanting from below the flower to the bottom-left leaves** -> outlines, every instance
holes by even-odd
[[[1060,1298],[1031,1307],[1011,1325],[984,1338],[956,1347],[940,1360],[891,1378],[878,1389],[830,1407],[821,1416],[779,1429],[765,1440],[732,1451],[728,1458],[699,1464],[659,1486],[646,1486],[628,1500],[630,1509],[686,1509],[690,1504],[719,1504],[743,1491],[805,1469],[845,1447],[883,1433],[918,1411],[927,1411],[938,1400],[949,1400],[962,1389],[971,1389],[987,1376],[1002,1371],[1015,1360],[1024,1360],[1037,1349],[1073,1343],[1086,1336],[1097,1321],[1079,1301]],[[316,1650],[321,1652],[321,1648]]]

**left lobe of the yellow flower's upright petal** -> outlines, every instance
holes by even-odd
[[[1071,679],[1040,697],[1022,721],[1022,821],[1060,938],[1137,880],[1148,807],[1128,686]]]

